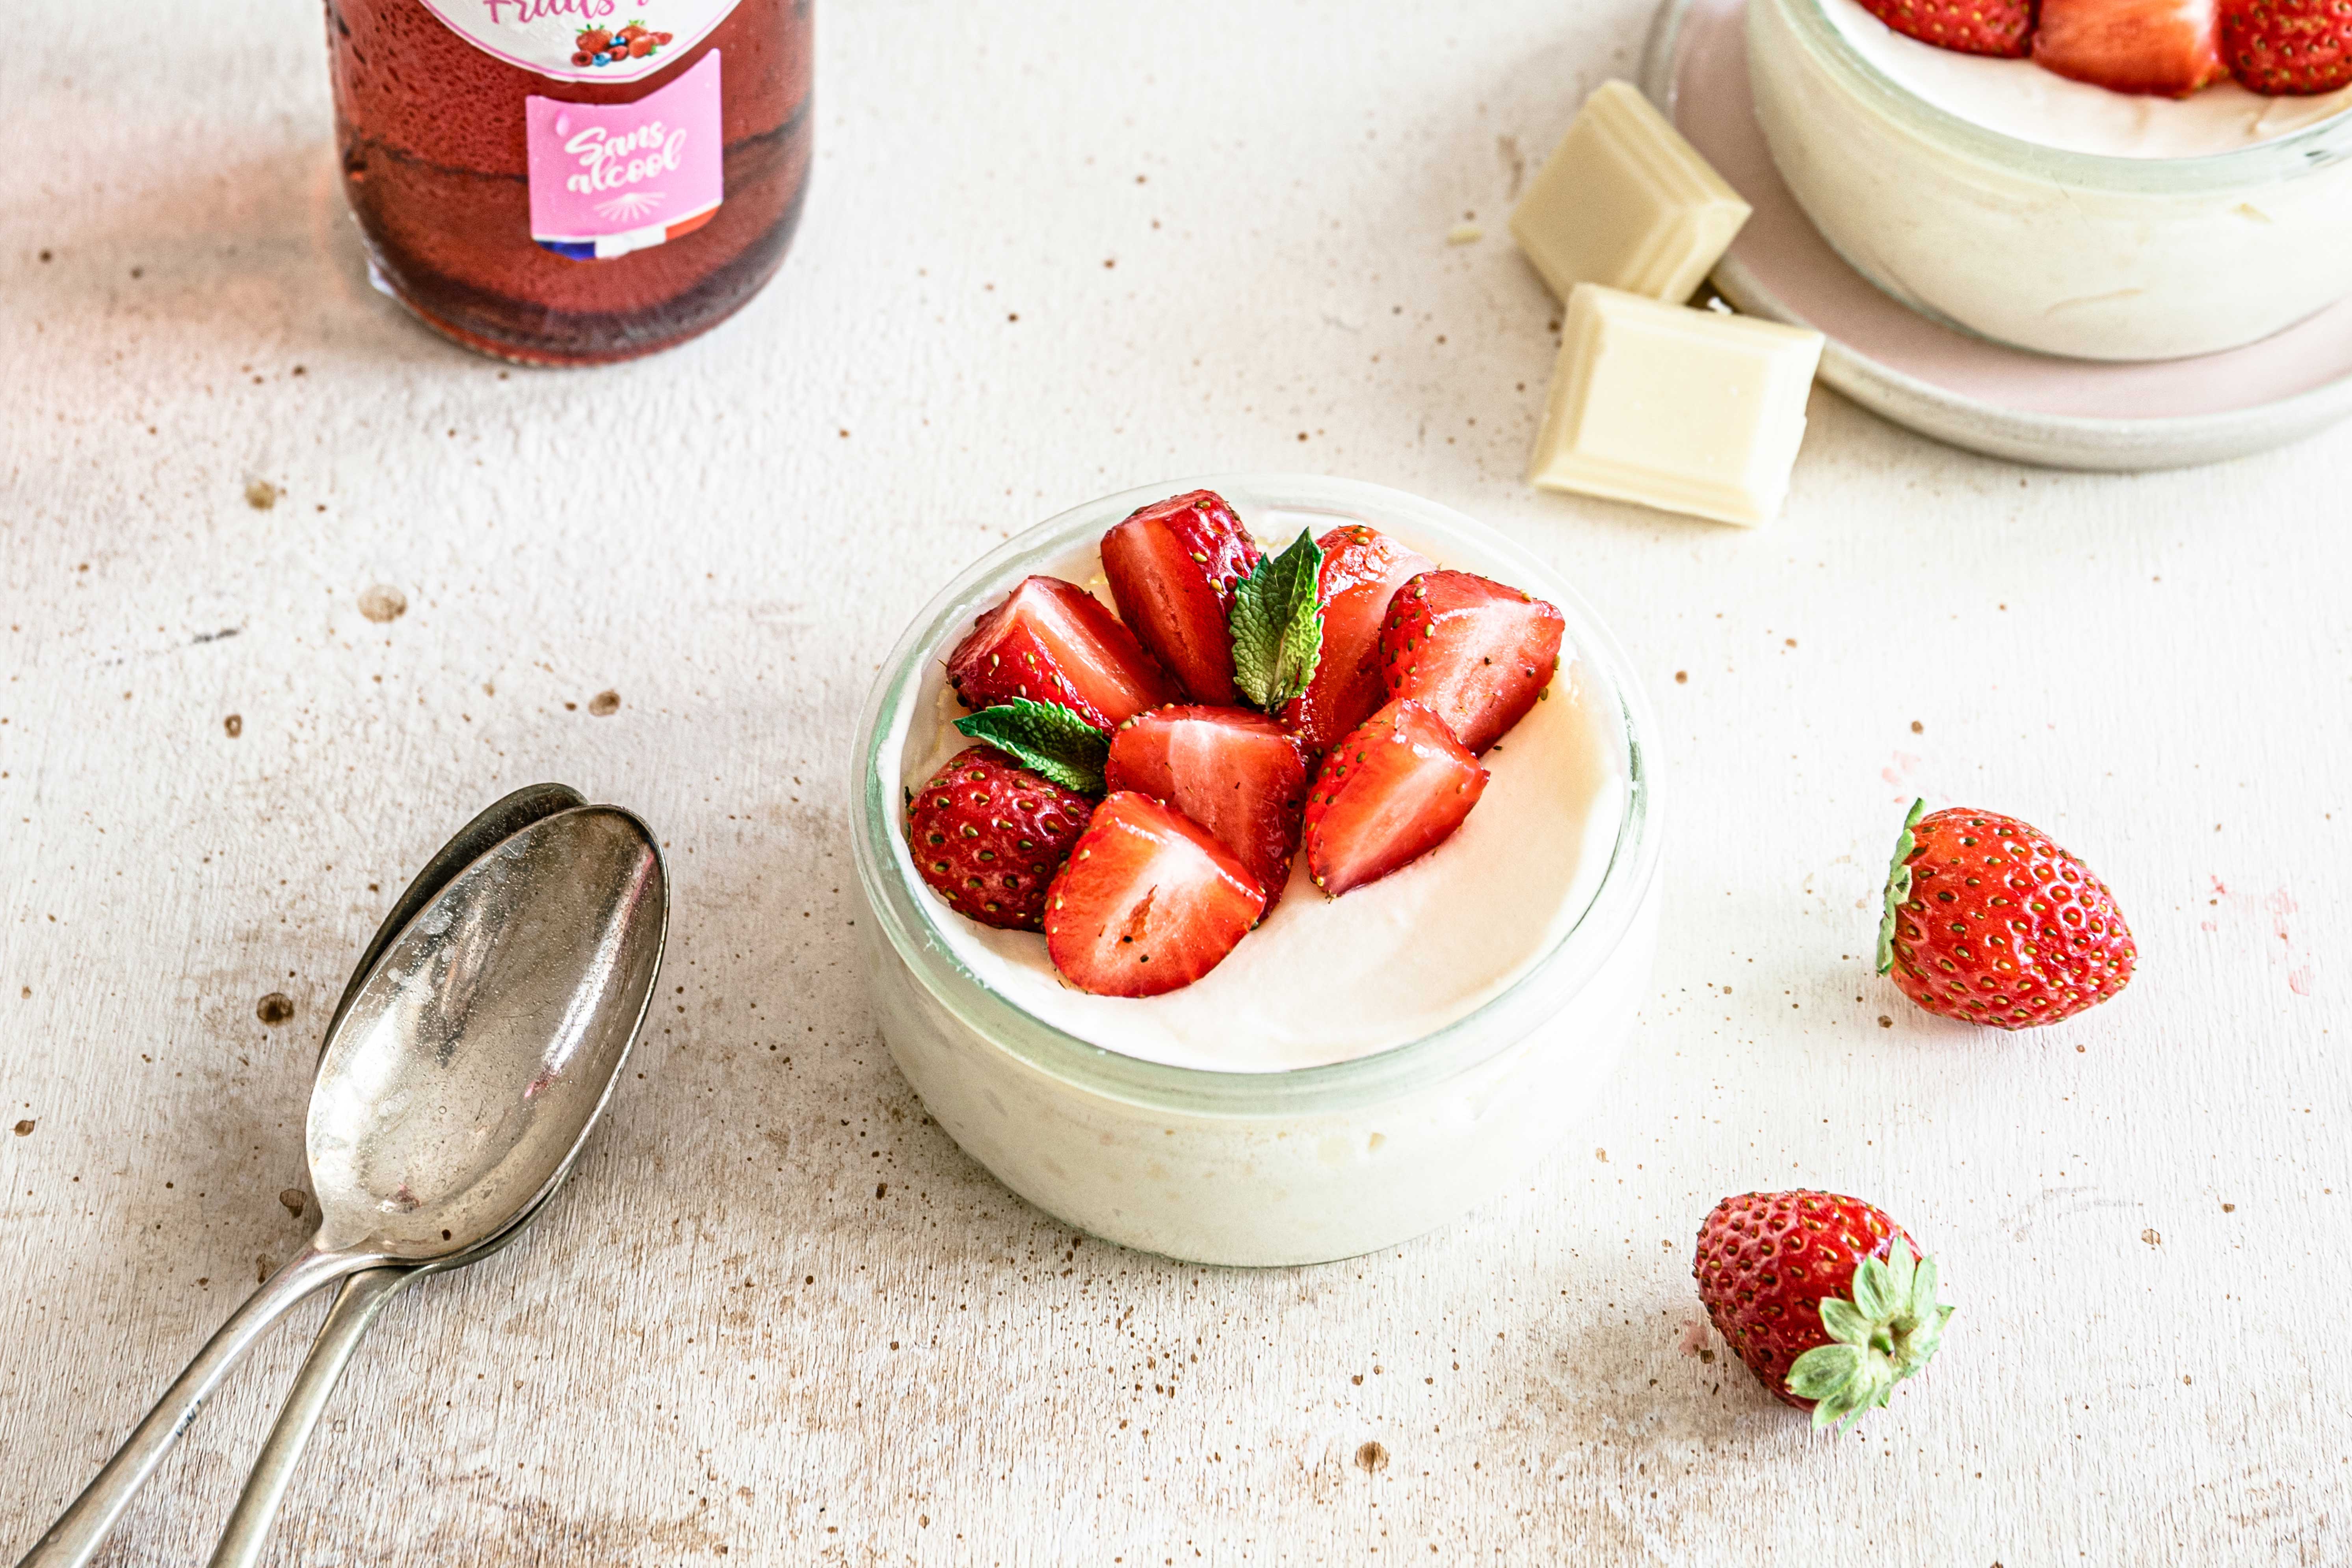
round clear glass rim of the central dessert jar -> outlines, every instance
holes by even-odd
[[[884,785],[884,748],[903,745],[924,691],[927,658],[948,646],[971,618],[1002,595],[1023,571],[1044,569],[1077,543],[1138,505],[1188,491],[1214,489],[1237,508],[1327,512],[1334,524],[1359,520],[1406,536],[1446,536],[1496,562],[1559,607],[1566,642],[1590,672],[1595,701],[1611,717],[1621,745],[1625,790],[1609,865],[1590,903],[1536,957],[1529,969],[1470,1013],[1416,1039],[1338,1063],[1270,1072],[1181,1067],[1122,1056],[1070,1034],[990,990],[955,957],[941,931],[936,900],[915,896],[913,860],[906,858],[896,823],[898,802]],[[1658,804],[1651,776],[1653,719],[1632,665],[1616,637],[1557,571],[1522,550],[1498,529],[1454,508],[1362,480],[1324,475],[1237,473],[1145,484],[1103,496],[1040,522],[967,567],[915,614],[882,663],[858,715],[851,764],[851,853],[866,903],[882,938],[943,1011],[1030,1067],[1082,1091],[1131,1105],[1185,1114],[1327,1114],[1437,1084],[1519,1044],[1557,1013],[1632,933],[1644,898],[1658,877]]]

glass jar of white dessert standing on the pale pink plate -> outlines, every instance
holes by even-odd
[[[2352,294],[2352,92],[2230,80],[2213,0],[2147,7],[2180,38],[2110,78],[2096,26],[2049,35],[2082,9],[1938,47],[1858,0],[1750,0],[1757,120],[1820,235],[1915,310],[2084,360],[2237,348]]]

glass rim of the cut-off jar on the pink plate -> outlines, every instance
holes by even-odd
[[[1693,0],[1672,0],[1668,9],[1689,12],[1691,5]],[[1898,125],[2013,174],[2114,195],[2211,195],[2298,179],[2352,158],[2352,110],[2272,141],[2194,158],[2122,158],[2044,146],[1955,115],[1900,85],[1844,35],[1823,0],[1748,0],[1748,5],[1776,5],[1816,61]]]

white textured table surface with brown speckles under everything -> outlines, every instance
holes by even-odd
[[[299,1246],[350,959],[536,778],[670,846],[642,1079],[534,1237],[390,1309],[273,1561],[2352,1559],[2352,430],[2084,477],[1816,393],[1757,534],[1524,489],[1550,308],[1501,219],[1644,24],[837,5],[767,296],[527,374],[367,289],[313,7],[47,7],[0,56],[0,1559]],[[1672,809],[1597,1119],[1444,1234],[1263,1274],[1000,1190],[847,929],[884,642],[1007,531],[1232,468],[1557,562]],[[1860,954],[1912,792],[2086,856],[2138,983],[1910,1011]],[[1856,1439],[1684,1349],[1698,1218],[1778,1185],[1886,1204],[1959,1302]],[[318,1312],[108,1561],[209,1552]]]

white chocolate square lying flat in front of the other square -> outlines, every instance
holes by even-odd
[[[1569,296],[1526,477],[1715,522],[1771,522],[1804,440],[1820,343],[1804,327],[1583,284]]]

